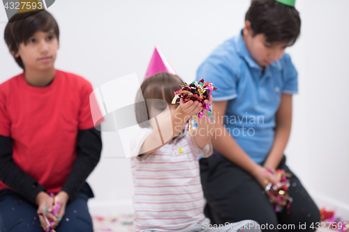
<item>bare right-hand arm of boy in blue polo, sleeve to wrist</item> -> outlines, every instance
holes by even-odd
[[[290,137],[292,123],[292,95],[283,93],[278,111],[276,111],[275,139],[265,167],[276,170],[283,157],[283,150]]]

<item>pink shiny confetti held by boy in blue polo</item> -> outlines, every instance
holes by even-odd
[[[271,171],[267,170],[271,173]],[[283,169],[276,170],[276,176],[279,178],[281,187],[277,187],[273,183],[268,183],[265,187],[265,192],[269,196],[274,196],[275,199],[279,201],[286,201],[286,206],[288,209],[288,214],[290,213],[290,203],[292,203],[292,198],[288,195],[288,187],[290,187],[290,173],[286,173]],[[275,212],[281,212],[283,210],[283,206],[279,206],[277,203],[273,203],[275,208]]]

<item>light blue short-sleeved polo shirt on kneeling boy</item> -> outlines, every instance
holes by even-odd
[[[197,73],[198,81],[203,78],[217,87],[212,93],[214,101],[228,101],[223,125],[258,164],[265,161],[274,143],[281,93],[298,91],[297,70],[288,54],[265,67],[264,73],[262,70],[239,33],[218,46]]]

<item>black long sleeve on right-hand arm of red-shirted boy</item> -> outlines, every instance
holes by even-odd
[[[61,191],[68,194],[70,201],[73,201],[76,194],[81,190],[87,177],[101,158],[101,131],[96,130],[94,127],[88,130],[79,130],[76,150],[77,157],[73,169],[70,171],[68,179],[61,189]]]

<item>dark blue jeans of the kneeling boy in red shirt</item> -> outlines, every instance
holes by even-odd
[[[85,186],[84,186],[85,187]],[[89,194],[80,191],[66,206],[66,213],[57,232],[94,231],[91,215],[87,208]],[[11,190],[0,190],[0,231],[1,232],[43,232],[36,214],[38,206],[29,203]]]

